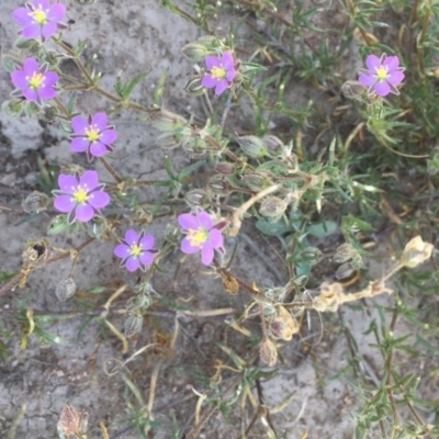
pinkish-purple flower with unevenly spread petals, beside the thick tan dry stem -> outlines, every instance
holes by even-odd
[[[187,237],[181,241],[181,251],[187,255],[201,250],[201,261],[209,266],[213,261],[214,250],[224,254],[223,234],[212,223],[211,215],[199,212],[195,215],[183,213],[178,217],[180,226]],[[218,225],[216,225],[218,226]]]

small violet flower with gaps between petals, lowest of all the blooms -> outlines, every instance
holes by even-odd
[[[114,255],[122,258],[121,267],[126,267],[132,272],[138,268],[145,271],[146,267],[154,262],[156,252],[153,249],[154,236],[145,236],[144,230],[139,235],[134,230],[127,230],[125,239],[121,239],[121,243],[114,248]]]

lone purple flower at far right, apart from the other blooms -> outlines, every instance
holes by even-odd
[[[364,87],[368,87],[368,92],[371,94],[375,91],[376,94],[385,97],[389,93],[399,94],[396,88],[404,79],[404,67],[399,67],[399,58],[397,56],[381,55],[379,58],[375,55],[369,55],[365,59],[368,69],[360,69],[359,81]]]

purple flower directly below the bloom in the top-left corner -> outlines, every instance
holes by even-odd
[[[13,85],[21,89],[27,101],[41,105],[42,100],[56,97],[53,86],[58,81],[58,74],[47,71],[47,66],[48,64],[45,63],[40,67],[34,58],[27,58],[23,64],[23,70],[12,71],[11,80]]]

